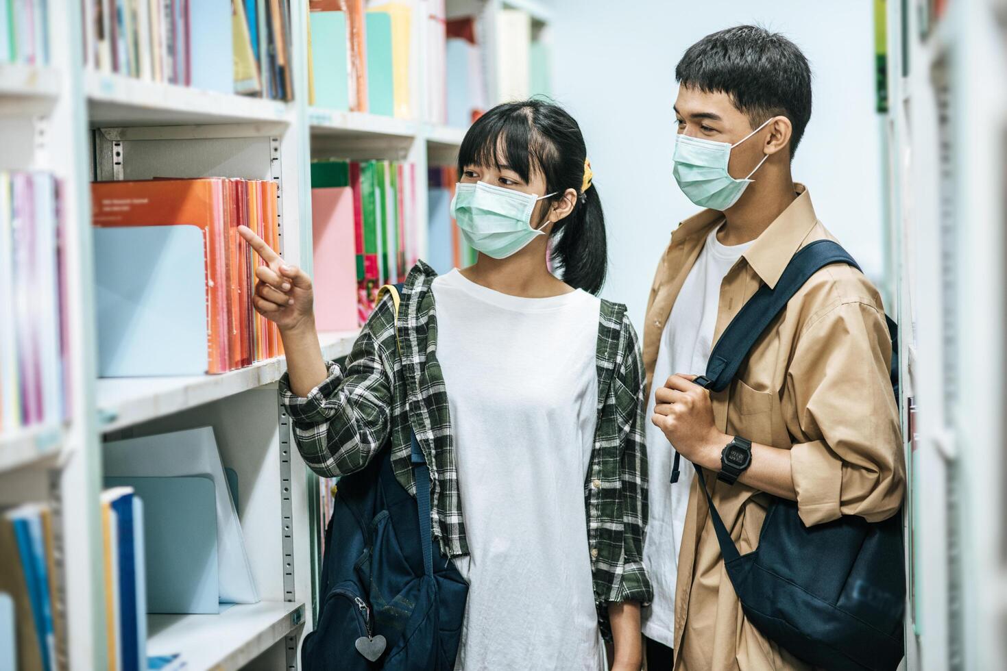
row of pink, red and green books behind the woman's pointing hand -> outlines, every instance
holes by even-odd
[[[345,287],[348,275],[340,271],[338,264],[347,263],[349,255],[348,249],[338,250],[337,240],[348,243],[352,239],[355,264],[351,267],[356,270],[352,304],[357,311],[357,325],[371,316],[382,285],[404,281],[419,257],[416,182],[416,166],[411,163],[328,160],[311,164],[313,202],[316,197],[331,196],[316,195],[316,190],[334,188],[348,189],[338,196],[351,199],[351,209],[348,202],[342,201],[341,207],[320,209],[313,215],[315,239],[323,242],[321,247],[315,247],[314,268],[316,283]],[[332,226],[335,231],[330,232]],[[351,238],[346,234],[347,226],[351,226]],[[331,243],[327,239],[330,234]],[[330,256],[333,254],[337,255],[335,259]],[[319,304],[319,328],[327,330],[323,323],[331,323],[333,329],[336,324],[345,324],[347,305],[345,300]]]

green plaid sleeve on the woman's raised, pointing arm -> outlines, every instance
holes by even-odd
[[[290,415],[297,449],[308,467],[332,478],[365,468],[385,444],[392,408],[391,364],[383,355],[394,347],[395,316],[391,300],[378,306],[361,332],[345,364],[328,363],[328,377],[300,397],[290,378],[280,380],[280,394]]]

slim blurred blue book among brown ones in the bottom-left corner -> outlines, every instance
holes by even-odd
[[[38,647],[42,653],[42,667],[46,671],[53,668],[55,635],[52,630],[52,610],[49,600],[48,570],[45,565],[45,549],[42,541],[41,510],[27,504],[7,513],[14,524],[21,567],[24,569],[28,597],[31,600],[32,620],[38,635]]]

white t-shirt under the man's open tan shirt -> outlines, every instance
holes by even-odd
[[[655,391],[675,373],[702,375],[713,348],[713,331],[720,305],[720,284],[751,242],[727,246],[714,227],[706,238],[675,300],[661,335],[654,383],[646,407],[646,456],[650,473],[651,519],[643,544],[643,564],[654,584],[654,603],[642,611],[643,635],[672,647],[675,643],[675,586],[679,549],[689,506],[692,466],[681,462],[679,481],[671,484],[675,453],[665,434],[654,426]]]

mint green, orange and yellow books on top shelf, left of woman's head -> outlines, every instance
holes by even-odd
[[[410,119],[416,0],[310,0],[309,103]]]

